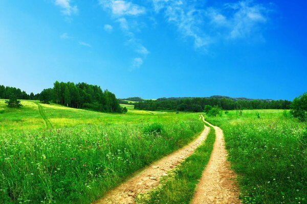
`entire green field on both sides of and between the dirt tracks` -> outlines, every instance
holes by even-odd
[[[21,100],[24,107],[10,109],[4,101],[0,203],[91,203],[203,130],[198,113],[121,105],[126,114],[110,114],[36,100]],[[223,111],[205,119],[224,131],[244,203],[307,202],[306,123],[283,110]],[[164,185],[138,201],[188,203],[208,161],[213,133]],[[176,193],[183,191],[189,194]]]

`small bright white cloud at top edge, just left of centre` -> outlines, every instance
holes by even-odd
[[[138,16],[146,12],[144,7],[124,0],[99,0],[99,3],[104,9],[111,10],[115,16]]]

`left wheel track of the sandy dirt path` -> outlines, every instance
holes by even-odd
[[[102,199],[94,203],[135,203],[135,197],[139,193],[146,193],[148,190],[157,187],[161,176],[167,175],[169,170],[175,168],[180,164],[180,162],[190,156],[206,139],[209,131],[209,127],[205,126],[201,135],[190,144],[153,163],[141,172],[138,172],[134,177],[132,177],[132,179],[124,182],[114,190],[109,191]]]

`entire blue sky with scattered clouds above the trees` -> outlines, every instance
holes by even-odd
[[[307,91],[305,1],[0,1],[0,84],[86,82],[117,97],[293,99]]]

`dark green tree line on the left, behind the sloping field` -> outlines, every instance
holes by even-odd
[[[48,104],[50,101],[71,108],[89,109],[101,112],[126,113],[115,94],[104,90],[97,85],[86,83],[74,84],[73,82],[58,82],[53,88],[43,89],[39,94],[28,95],[25,91],[14,87],[0,86],[1,98],[39,99],[41,103]]]

